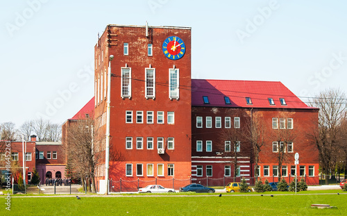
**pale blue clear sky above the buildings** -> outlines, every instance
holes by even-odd
[[[347,92],[347,1],[66,1],[0,4],[1,122],[63,123],[94,94],[107,24],[192,27],[192,78],[281,81]]]

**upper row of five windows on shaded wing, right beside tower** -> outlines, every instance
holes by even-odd
[[[212,128],[212,117],[207,116],[206,119],[206,128]],[[215,128],[221,128],[221,117],[215,117],[214,118],[214,127]],[[224,127],[225,128],[231,128],[231,117],[224,117]],[[196,117],[196,128],[203,128],[203,117],[197,116]],[[239,117],[234,117],[234,128],[240,128],[240,119]]]

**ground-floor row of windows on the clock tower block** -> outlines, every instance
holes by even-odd
[[[167,165],[167,176],[174,176],[174,164],[168,164]],[[144,167],[146,167],[146,170],[144,170]],[[157,168],[154,170],[154,168]],[[136,176],[164,176],[164,164],[158,163],[156,166],[153,163],[147,163],[146,165],[142,163],[135,164],[135,167],[133,167],[132,163],[126,164],[126,176],[133,176],[133,169],[135,169],[135,175]]]

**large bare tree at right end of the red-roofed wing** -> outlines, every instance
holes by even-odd
[[[341,90],[328,89],[310,101],[311,106],[319,108],[319,131],[313,132],[312,136],[319,149],[321,167],[325,176],[335,171],[338,149],[344,147],[340,129],[346,115],[345,98],[346,94]],[[328,183],[328,177],[325,178],[325,183]]]

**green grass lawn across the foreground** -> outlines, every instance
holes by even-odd
[[[0,215],[347,215],[347,194],[189,194],[189,196],[12,197]],[[316,209],[311,204],[337,208]]]

